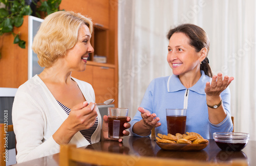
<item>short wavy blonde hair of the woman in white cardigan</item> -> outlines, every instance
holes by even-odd
[[[92,20],[80,13],[58,11],[48,15],[41,23],[32,44],[38,64],[41,67],[50,67],[68,49],[74,47],[82,24],[86,24],[92,34]]]

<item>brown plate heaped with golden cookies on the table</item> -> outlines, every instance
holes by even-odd
[[[209,143],[196,132],[176,133],[176,135],[158,133],[156,140],[161,149],[169,151],[199,151],[207,147]]]

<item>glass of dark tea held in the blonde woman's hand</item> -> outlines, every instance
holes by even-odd
[[[109,118],[109,137],[113,139],[123,139],[123,126],[127,123],[128,108],[114,108],[108,107]]]

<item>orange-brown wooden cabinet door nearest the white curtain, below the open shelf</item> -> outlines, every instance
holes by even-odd
[[[96,103],[105,100],[115,99],[115,70],[108,67],[93,67],[93,89],[95,92]]]

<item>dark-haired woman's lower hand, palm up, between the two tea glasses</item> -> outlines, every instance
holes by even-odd
[[[141,113],[143,124],[148,126],[148,129],[151,130],[153,127],[161,126],[161,123],[159,122],[160,119],[155,113],[150,114],[150,112],[143,107],[139,107],[138,110]]]

